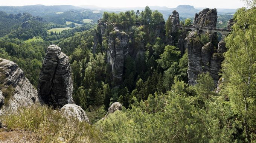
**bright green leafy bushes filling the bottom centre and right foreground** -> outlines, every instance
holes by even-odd
[[[200,108],[200,97],[187,96],[186,83],[174,81],[168,94],[155,93],[140,102],[133,97],[131,110],[98,122],[104,142],[234,142],[230,105],[216,98]]]

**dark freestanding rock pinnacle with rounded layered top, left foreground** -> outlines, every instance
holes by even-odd
[[[49,106],[62,107],[74,103],[69,57],[62,53],[57,45],[47,48],[37,90],[38,95]]]

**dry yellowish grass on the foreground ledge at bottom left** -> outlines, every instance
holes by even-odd
[[[65,117],[48,106],[20,108],[0,117],[8,130],[30,132],[41,143],[99,143],[99,131],[85,121]]]

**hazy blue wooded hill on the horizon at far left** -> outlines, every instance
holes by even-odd
[[[17,14],[28,12],[32,15],[43,15],[44,12],[66,12],[67,10],[78,10],[81,7],[72,5],[59,5],[59,6],[44,6],[44,5],[31,5],[31,6],[0,6],[0,11],[6,13]]]

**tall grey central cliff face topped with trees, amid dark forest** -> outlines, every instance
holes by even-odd
[[[151,32],[161,36],[160,31],[161,28],[156,28]],[[114,86],[120,86],[120,84],[122,84],[125,58],[130,55],[134,59],[137,59],[138,57],[143,57],[142,55],[145,54],[143,40],[140,40],[139,43],[137,40],[136,43],[134,33],[120,31],[119,28],[115,27],[113,24],[102,22],[101,19],[99,19],[97,33],[94,34],[94,49],[97,44],[98,46],[102,45],[102,39],[107,39],[108,43],[107,61],[110,65],[110,79],[113,81]]]

